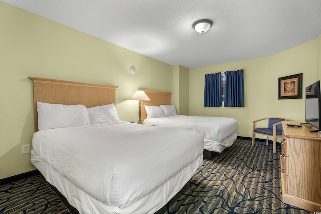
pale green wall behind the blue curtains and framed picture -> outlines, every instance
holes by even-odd
[[[304,121],[304,89],[320,79],[320,40],[321,37],[268,57],[190,69],[189,114],[232,117],[238,123],[238,136],[244,137],[251,137],[252,121],[256,119],[285,117]],[[204,75],[238,69],[244,70],[245,107],[203,107],[200,95],[204,93]],[[298,73],[303,73],[302,99],[278,100],[278,78]]]

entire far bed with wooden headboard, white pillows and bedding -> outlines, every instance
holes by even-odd
[[[237,121],[229,117],[177,115],[171,92],[144,90],[150,101],[141,102],[141,120],[161,127],[182,128],[204,137],[204,157],[212,159],[237,138]]]

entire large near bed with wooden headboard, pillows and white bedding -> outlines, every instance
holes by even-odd
[[[112,107],[115,112],[111,104],[114,97],[106,99],[104,91],[84,93],[87,88],[93,90],[93,84],[30,79],[34,82],[36,113],[31,162],[80,213],[154,213],[203,164],[203,137],[198,133],[124,122],[116,114],[106,115],[99,105]],[[97,94],[101,94],[102,103],[97,103]],[[70,117],[65,115],[74,111],[71,106],[81,113],[97,106],[96,114],[74,117],[69,123]],[[50,122],[46,122],[47,116]],[[101,116],[107,119],[100,120]]]

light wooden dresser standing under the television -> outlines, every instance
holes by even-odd
[[[282,121],[280,154],[282,200],[310,212],[321,212],[321,137],[303,122]]]

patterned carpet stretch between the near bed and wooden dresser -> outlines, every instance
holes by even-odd
[[[157,214],[310,213],[281,201],[280,148],[237,139],[205,160],[192,179]]]

